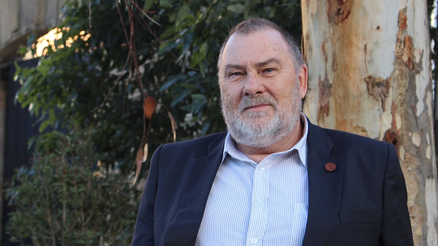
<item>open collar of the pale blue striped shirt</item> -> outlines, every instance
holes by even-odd
[[[300,121],[304,124],[304,130],[303,130],[303,136],[301,139],[296,143],[290,150],[274,153],[274,154],[283,154],[283,153],[289,153],[293,150],[298,151],[298,155],[300,156],[300,160],[303,163],[304,166],[307,166],[307,133],[309,131],[309,126],[307,122],[307,117],[301,113],[300,114]],[[224,144],[224,153],[222,156],[222,162],[224,162],[225,158],[227,157],[227,154],[230,155],[234,159],[238,160],[247,160],[248,158],[240,152],[236,145],[234,144],[233,137],[230,135],[230,132],[227,133],[227,137],[225,138],[225,144]]]

